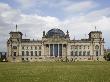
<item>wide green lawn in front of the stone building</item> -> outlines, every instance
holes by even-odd
[[[0,63],[0,82],[110,82],[110,62]]]

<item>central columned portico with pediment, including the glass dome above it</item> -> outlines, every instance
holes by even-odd
[[[43,32],[43,39],[46,46],[46,52],[50,57],[62,57],[65,56],[65,48],[69,34],[60,29],[51,29],[46,34]],[[65,54],[64,54],[65,53]]]

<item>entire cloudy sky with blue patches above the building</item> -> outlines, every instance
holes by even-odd
[[[110,0],[0,0],[0,51],[6,51],[9,32],[15,25],[23,38],[41,39],[42,32],[59,28],[71,39],[88,38],[90,31],[103,32],[110,47]]]

